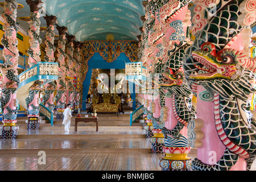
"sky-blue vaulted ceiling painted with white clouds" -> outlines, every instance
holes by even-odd
[[[76,40],[138,40],[145,14],[143,0],[42,0],[47,15],[57,17],[57,25],[68,27]]]

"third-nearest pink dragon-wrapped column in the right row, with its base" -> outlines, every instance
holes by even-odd
[[[151,118],[149,121],[152,121],[152,123],[149,122],[147,124],[152,125],[151,131],[149,130],[152,133],[150,138],[151,152],[158,153],[163,153],[164,135],[162,134],[162,128],[164,127],[163,110],[165,107],[165,93],[163,93],[163,90],[159,89],[156,72],[150,68],[153,68],[154,66],[151,65],[154,65],[159,59],[162,59],[162,42],[158,41],[161,40],[161,38],[159,38],[159,9],[164,3],[166,3],[166,1],[143,2],[143,5],[146,7],[146,15],[144,18],[142,42],[139,45],[139,49],[141,50],[139,59],[141,59],[144,64],[148,64],[147,67],[149,67],[147,91],[151,97],[150,105],[154,105],[154,109],[158,109],[155,111],[155,115],[159,117],[155,118],[151,114],[148,118]],[[151,113],[151,111],[149,111],[149,113]]]

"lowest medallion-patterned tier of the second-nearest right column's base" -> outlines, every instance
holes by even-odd
[[[191,159],[172,160],[163,158],[159,165],[162,167],[162,171],[192,171]]]

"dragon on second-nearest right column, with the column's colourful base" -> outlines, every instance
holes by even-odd
[[[191,169],[191,160],[187,157],[190,151],[188,140],[187,137],[180,133],[180,131],[196,117],[195,108],[192,106],[192,92],[186,84],[181,64],[184,58],[185,48],[187,47],[188,45],[186,44],[174,52],[170,59],[167,60],[165,66],[162,67],[163,71],[159,76],[161,89],[168,90],[168,94],[170,94],[172,98],[172,110],[174,115],[172,118],[176,119],[177,122],[172,129],[168,129],[167,126],[162,129],[162,133],[165,136],[164,152],[167,155],[160,160],[160,166],[163,169]],[[174,120],[172,120],[172,122],[174,122]],[[175,150],[179,150],[179,152],[177,153]]]

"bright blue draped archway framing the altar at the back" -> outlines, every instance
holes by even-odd
[[[92,69],[125,69],[125,63],[131,62],[125,53],[120,53],[116,60],[109,63],[100,56],[100,53],[95,52],[94,55],[88,60],[88,72],[86,73],[85,80],[82,83],[82,110],[86,110],[86,98],[88,96],[90,79],[92,77]],[[129,82],[131,99],[133,100],[133,110],[135,110],[135,85]]]

